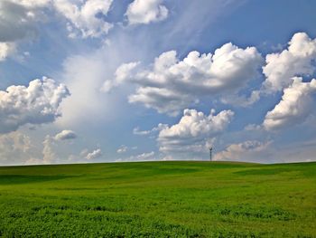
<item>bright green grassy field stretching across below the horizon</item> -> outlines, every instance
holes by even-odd
[[[4,237],[316,237],[316,163],[0,167]]]

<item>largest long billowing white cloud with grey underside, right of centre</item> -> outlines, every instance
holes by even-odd
[[[224,44],[214,54],[190,52],[183,60],[175,51],[163,52],[154,60],[153,68],[129,76],[140,85],[129,102],[177,115],[201,97],[237,94],[248,81],[256,79],[262,62],[255,47],[241,49],[232,43]],[[257,99],[253,95],[251,100]]]

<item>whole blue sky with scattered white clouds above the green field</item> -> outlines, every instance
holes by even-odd
[[[1,0],[0,166],[315,161],[314,9]]]

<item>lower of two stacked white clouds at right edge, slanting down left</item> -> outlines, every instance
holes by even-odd
[[[265,115],[265,129],[282,129],[303,122],[313,111],[315,92],[316,80],[302,82],[302,78],[294,78],[292,85],[283,90],[282,100]]]

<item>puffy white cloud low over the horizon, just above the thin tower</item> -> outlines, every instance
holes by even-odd
[[[233,116],[231,110],[222,110],[215,115],[212,109],[208,116],[195,109],[184,109],[179,123],[159,132],[159,150],[165,153],[206,151],[214,138],[228,128]]]

